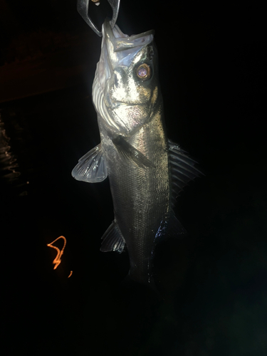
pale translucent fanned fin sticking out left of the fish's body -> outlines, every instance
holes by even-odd
[[[101,143],[79,159],[71,174],[73,178],[88,183],[103,182],[108,177]]]

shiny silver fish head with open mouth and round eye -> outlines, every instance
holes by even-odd
[[[158,107],[159,80],[154,31],[127,36],[116,25],[103,24],[103,42],[95,80],[103,102],[96,110],[113,129],[131,135],[149,122]],[[104,117],[106,116],[106,117]]]

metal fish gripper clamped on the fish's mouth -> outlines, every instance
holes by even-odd
[[[77,2],[78,13],[80,14],[80,16],[82,16],[82,18],[90,26],[90,28],[93,28],[93,31],[95,31],[95,33],[97,33],[98,36],[101,37],[102,32],[98,31],[98,28],[95,27],[95,24],[93,23],[93,21],[90,19],[90,16],[88,15],[89,2],[90,0],[78,0]],[[99,4],[98,1],[94,1],[94,2],[95,4]],[[113,11],[112,19],[110,21],[110,26],[111,28],[113,28],[117,21],[117,15],[119,14],[120,0],[108,0],[108,2],[110,3],[110,6]]]

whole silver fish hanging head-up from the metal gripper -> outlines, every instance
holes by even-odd
[[[166,135],[155,32],[127,36],[106,20],[102,33],[93,81],[100,144],[79,159],[72,175],[90,183],[109,178],[114,220],[100,251],[127,248],[130,278],[152,286],[155,246],[186,234],[173,207],[201,172]]]

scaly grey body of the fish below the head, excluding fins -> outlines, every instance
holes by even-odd
[[[106,137],[105,122],[100,126],[103,137]],[[144,283],[152,274],[155,234],[162,217],[169,211],[167,139],[162,141],[162,132],[162,117],[156,113],[150,123],[129,141],[132,146],[138,145],[140,152],[155,167],[139,167],[135,162],[125,161],[120,152],[114,150],[112,140],[103,140],[115,221],[125,238],[130,256],[130,276]],[[135,228],[132,229],[132,226]]]

